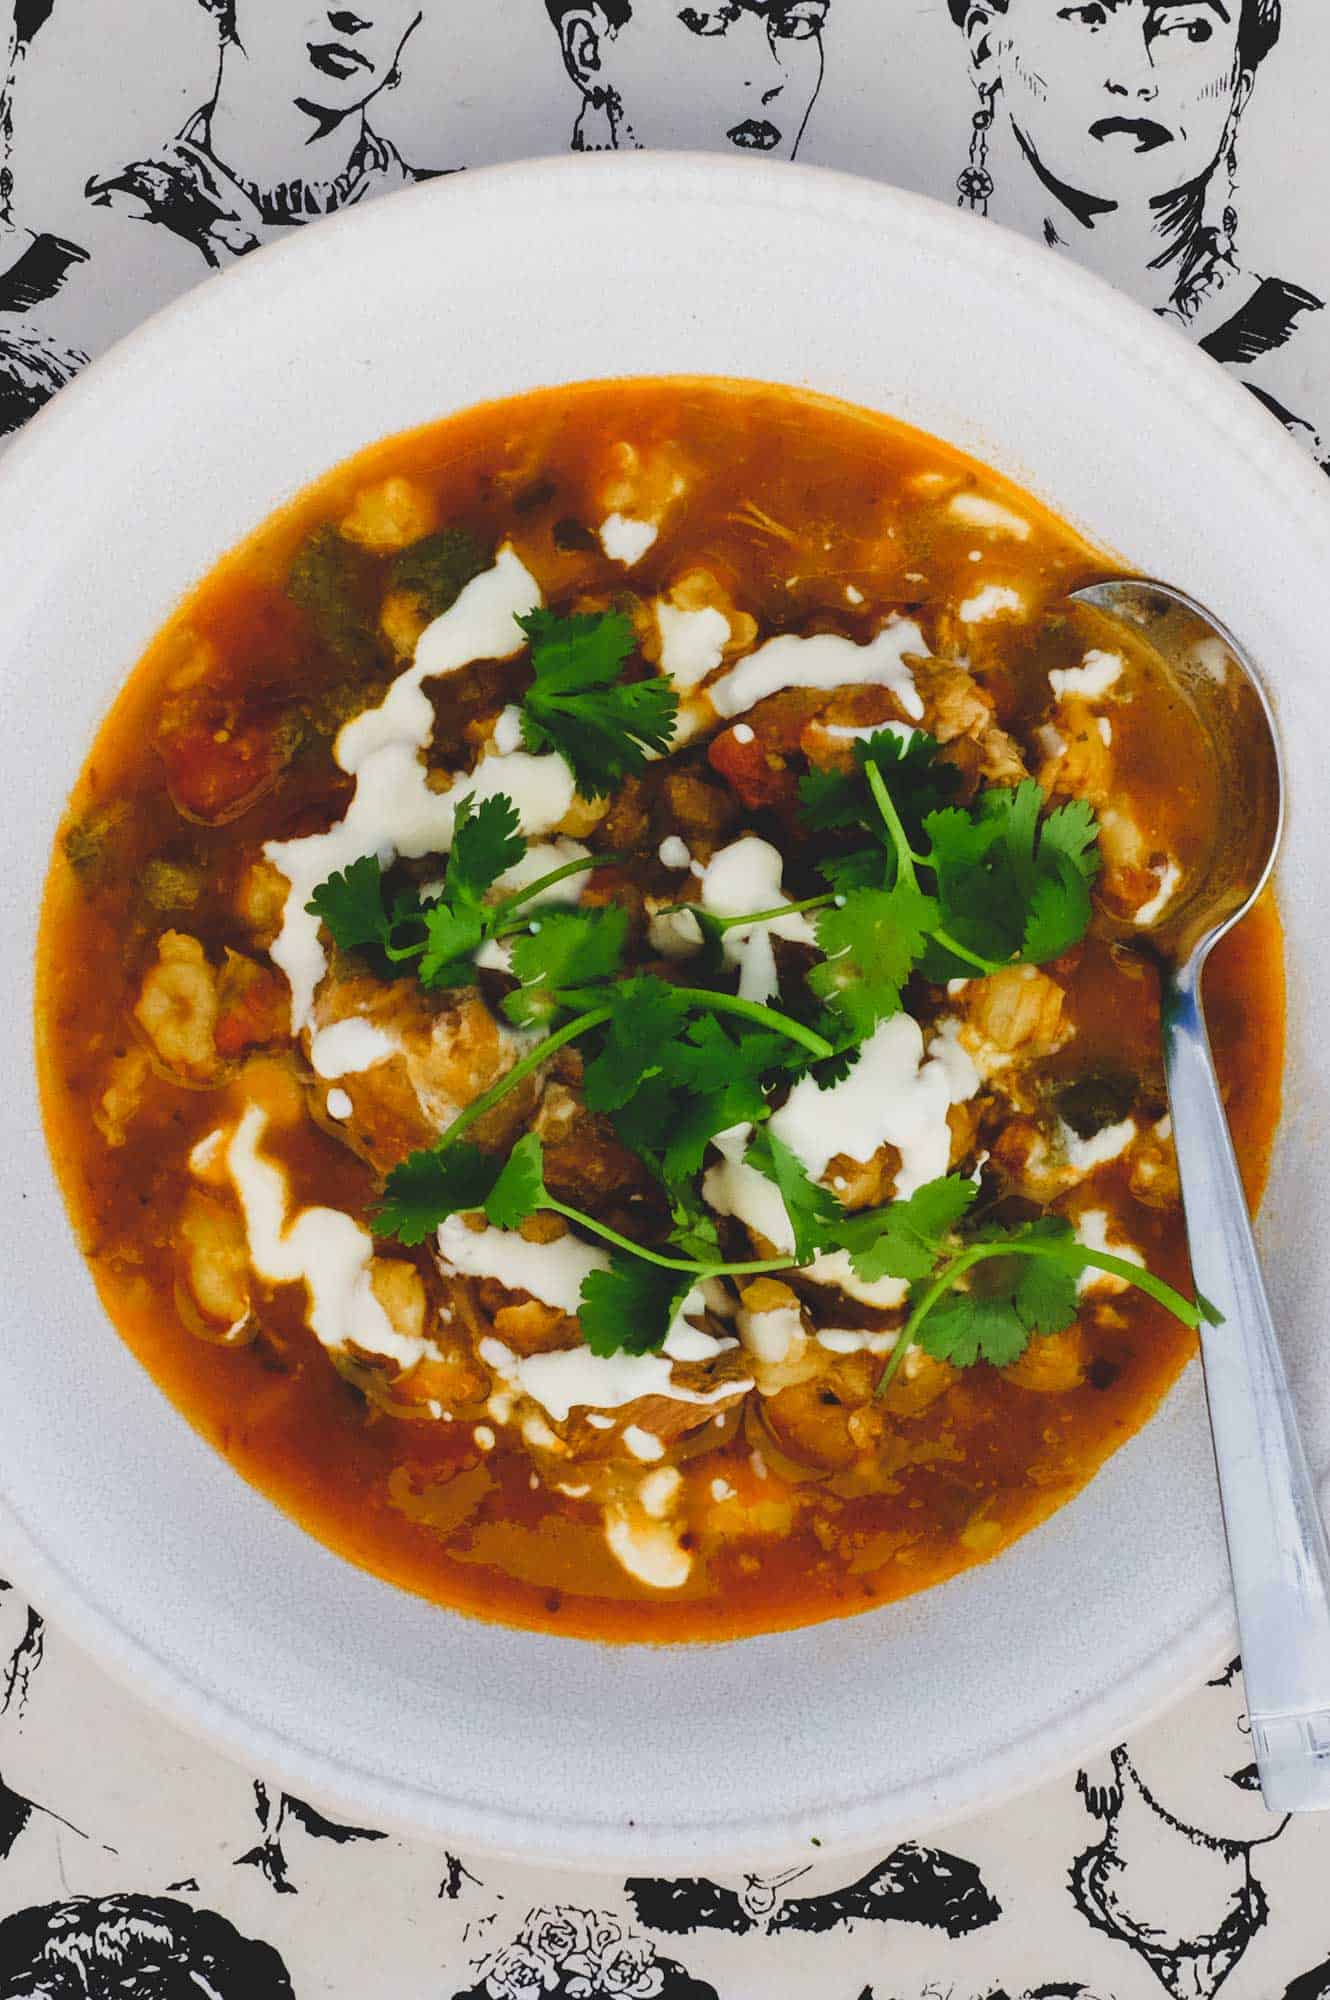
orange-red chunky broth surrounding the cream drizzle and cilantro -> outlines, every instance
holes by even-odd
[[[654,530],[630,564],[606,554],[612,516]],[[808,894],[798,778],[846,768],[854,728],[916,720],[898,692],[854,676],[768,692],[742,716],[708,708],[716,670],[772,636],[868,646],[892,618],[914,620],[926,726],[946,738],[962,790],[1030,774],[1056,798],[1096,802],[1106,866],[1084,942],[1020,990],[1008,974],[954,994],[916,982],[908,1006],[926,1034],[950,1016],[988,1072],[948,1112],[948,1164],[982,1174],[994,1200],[1098,1214],[1110,1246],[1188,1286],[1158,996],[1120,940],[1170,862],[1182,880],[1204,864],[1214,780],[1146,654],[1128,652],[1102,692],[1094,674],[1090,688],[1050,686],[1050,670],[1084,680],[1086,652],[1108,646],[1056,608],[1106,574],[1104,558],[1028,494],[884,418],[790,390],[664,380],[540,392],[372,446],[258,528],[146,658],[126,662],[70,800],[38,950],[48,1134],[112,1322],[242,1478],[348,1560],[474,1616],[610,1640],[732,1638],[864,1610],[992,1558],[1092,1478],[1190,1358],[1192,1334],[1142,1294],[1086,1292],[1068,1332],[1036,1336],[1008,1368],[916,1350],[878,1400],[882,1346],[840,1352],[818,1334],[890,1334],[904,1310],[774,1278],[776,1294],[734,1298],[730,1312],[748,1324],[784,1312],[786,1326],[794,1314],[784,1356],[724,1346],[738,1322],[712,1318],[716,1352],[676,1364],[716,1414],[656,1396],[592,1424],[588,1408],[558,1416],[514,1396],[486,1360],[496,1336],[526,1358],[580,1340],[576,1316],[520,1284],[378,1240],[376,1298],[428,1346],[394,1370],[330,1354],[306,1286],[254,1268],[224,1170],[246,1108],[262,1110],[292,1212],[318,1204],[368,1228],[384,1172],[438,1136],[438,1102],[470,1102],[512,1060],[502,976],[424,994],[332,954],[324,1024],[388,1022],[396,1046],[416,1050],[346,1076],[350,1116],[338,1116],[340,1086],[314,1072],[308,1032],[292,1034],[270,956],[286,882],[264,844],[346,814],[338,730],[410,666],[430,616],[414,556],[424,546],[438,566],[440,548],[456,560],[462,546],[430,540],[442,530],[472,538],[486,564],[508,546],[560,612],[618,608],[638,678],[662,666],[662,606],[694,620],[710,610],[728,630],[724,664],[684,698],[690,740],[608,800],[578,796],[548,834],[616,856],[578,886],[584,908],[628,910],[634,968],[670,970],[652,920],[696,900],[698,876],[746,836],[772,840]],[[494,752],[530,676],[514,652],[426,682],[434,788]],[[668,866],[670,840],[696,868]],[[442,866],[424,856],[416,880]],[[810,956],[798,940],[780,946],[782,996]],[[1270,898],[1220,948],[1206,992],[1256,1202],[1284,1048]],[[1112,1100],[1100,1130],[1128,1112],[1134,1128],[1112,1158],[1078,1168],[1060,1106],[1080,1088],[1084,1110],[1090,1086]],[[542,1128],[546,1164],[558,1156],[588,1212],[646,1212],[640,1162],[580,1106],[576,1060],[550,1064],[508,1110],[490,1144]],[[846,1204],[882,1202],[900,1164],[884,1142],[868,1162],[832,1158],[828,1176]],[[558,1228],[540,1216],[526,1238],[552,1256]],[[748,1376],[756,1386],[738,1386]],[[634,1454],[634,1428],[658,1456]],[[642,1512],[650,1478],[664,1518]],[[616,1554],[608,1522],[628,1516],[634,1548],[644,1532],[668,1544],[668,1582],[640,1552],[628,1566]]]

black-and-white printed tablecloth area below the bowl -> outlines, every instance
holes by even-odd
[[[936,1840],[588,1878],[346,1824],[0,1584],[0,2000],[1330,2000],[1328,1866],[1262,1806],[1236,1660]]]

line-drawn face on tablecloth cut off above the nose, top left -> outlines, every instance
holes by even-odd
[[[304,0],[236,0],[236,42],[294,104],[336,122],[384,88],[420,20],[420,0],[360,0],[310,8]]]

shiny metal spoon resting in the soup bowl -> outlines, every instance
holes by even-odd
[[[1238,1160],[1220,1100],[1200,976],[1270,878],[1284,772],[1268,696],[1230,632],[1170,584],[1122,578],[1072,596],[1138,632],[1196,708],[1224,826],[1204,880],[1138,936],[1162,980],[1164,1070],[1198,1290],[1222,1312],[1200,1352],[1224,1502],[1242,1670],[1270,1812],[1330,1810],[1330,1548],[1298,1436]]]

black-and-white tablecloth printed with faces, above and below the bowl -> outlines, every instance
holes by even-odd
[[[0,434],[350,202],[568,146],[736,146],[1042,236],[1330,470],[1328,72],[1316,0],[0,0]],[[1236,1662],[1178,1694],[890,1854],[600,1880],[338,1824],[0,1582],[0,2000],[1326,2000],[1330,1820],[1264,1812]]]

